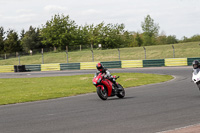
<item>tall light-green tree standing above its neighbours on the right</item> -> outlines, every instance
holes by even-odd
[[[144,22],[141,24],[143,30],[143,38],[144,38],[144,45],[155,45],[156,44],[156,37],[158,36],[159,32],[159,25],[154,23],[154,20],[147,15],[144,19]]]

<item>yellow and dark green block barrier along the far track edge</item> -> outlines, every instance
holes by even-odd
[[[196,58],[169,58],[154,60],[122,60],[101,62],[106,68],[140,68],[140,67],[163,67],[163,66],[191,66]],[[38,65],[5,65],[0,66],[0,73],[8,72],[31,72],[31,71],[60,71],[60,70],[85,70],[96,69],[98,62],[81,63],[54,63]]]

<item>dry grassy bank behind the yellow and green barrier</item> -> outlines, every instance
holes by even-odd
[[[200,42],[179,43],[173,44],[175,47],[176,58],[200,57]],[[155,45],[145,46],[147,59],[165,59],[173,58],[172,45]],[[69,63],[74,62],[91,62],[92,53],[90,50],[76,51],[68,53]],[[143,47],[120,48],[121,60],[143,60]],[[94,50],[94,61],[116,61],[119,60],[117,49],[108,50]],[[41,54],[34,56],[22,56],[20,64],[31,65],[41,64]],[[67,63],[66,53],[44,53],[44,63]],[[18,65],[18,58],[11,58],[7,60],[0,60],[0,65]]]

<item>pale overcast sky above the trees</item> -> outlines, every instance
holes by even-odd
[[[160,33],[191,37],[200,34],[200,0],[0,0],[0,26],[17,32],[42,27],[55,14],[69,15],[77,25],[125,24],[142,32],[149,14]]]

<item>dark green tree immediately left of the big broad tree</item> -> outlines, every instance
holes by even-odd
[[[29,30],[24,35],[22,31],[21,38],[21,45],[26,52],[42,47],[39,28],[33,28],[30,26]]]

